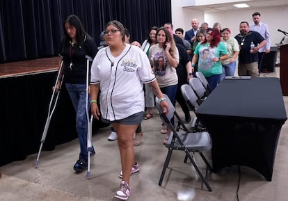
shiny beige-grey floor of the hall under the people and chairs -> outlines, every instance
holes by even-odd
[[[276,72],[261,74],[261,77],[279,77]],[[288,97],[284,97],[288,106]],[[182,118],[183,113],[177,107]],[[157,111],[154,111],[156,114]],[[191,112],[192,113],[192,112]],[[276,152],[273,179],[267,182],[262,175],[251,168],[241,167],[239,200],[241,201],[285,201],[288,198],[288,123],[280,134]],[[142,123],[144,138],[135,154],[140,164],[140,172],[131,176],[131,196],[129,200],[237,200],[239,172],[237,166],[227,168],[218,174],[212,173],[208,179],[212,192],[202,185],[191,166],[183,163],[184,153],[173,152],[162,186],[159,177],[166,158],[167,149],[162,145],[165,136],[160,134],[161,120],[154,115]],[[93,134],[97,154],[93,156],[91,178],[86,172],[75,174],[72,166],[77,159],[79,146],[77,139],[58,145],[54,151],[42,152],[38,168],[33,167],[36,154],[24,161],[15,161],[0,167],[0,200],[117,200],[113,195],[120,184],[120,156],[116,141],[108,141],[109,127]],[[205,153],[211,161],[211,153]],[[198,166],[205,166],[196,157]]]

